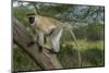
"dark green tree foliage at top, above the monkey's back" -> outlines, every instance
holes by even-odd
[[[50,5],[50,7],[46,7],[46,8],[45,7],[41,7],[39,9],[39,13],[41,15],[52,16],[52,17],[55,17],[56,14],[62,14],[62,13],[66,12],[69,10],[69,8],[73,8],[73,5],[68,5],[68,4]],[[45,11],[47,13],[45,13]],[[57,19],[59,19],[59,17],[57,17]]]

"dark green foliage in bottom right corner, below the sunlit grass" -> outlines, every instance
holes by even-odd
[[[105,52],[99,48],[89,48],[83,50],[82,52],[82,61],[83,63],[90,63],[90,66],[99,66],[105,64]],[[85,64],[87,66],[87,64]]]

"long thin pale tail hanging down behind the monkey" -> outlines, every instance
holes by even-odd
[[[78,45],[77,45],[77,40],[76,40],[76,37],[73,33],[73,31],[71,28],[70,29],[70,33],[72,35],[72,37],[74,38],[74,42],[75,42],[75,46],[76,46],[76,49],[77,49],[77,54],[78,54],[78,62],[80,62],[80,68],[82,68],[82,58],[81,58],[81,51],[80,51],[80,48],[78,48]]]

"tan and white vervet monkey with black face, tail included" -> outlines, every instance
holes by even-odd
[[[27,19],[32,27],[37,33],[37,41],[39,46],[39,51],[43,51],[44,47],[44,37],[48,37],[49,39],[49,46],[51,52],[59,52],[60,51],[60,38],[62,35],[63,29],[69,29],[72,37],[74,38],[74,41],[77,47],[76,38],[74,36],[74,33],[72,32],[72,26],[68,23],[59,22],[52,17],[41,16],[35,13],[28,13]],[[78,60],[81,64],[81,54],[78,50]]]

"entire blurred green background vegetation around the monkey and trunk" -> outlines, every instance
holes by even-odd
[[[64,31],[61,38],[61,51],[57,53],[59,61],[64,69],[104,66],[105,65],[105,21],[104,7],[99,5],[77,5],[77,4],[56,4],[56,3],[28,3],[13,2],[12,14],[21,21],[27,28],[29,24],[26,13],[36,11],[40,15],[51,16],[61,22],[68,22],[73,26],[77,39],[77,48],[68,31]],[[14,37],[14,36],[13,36]],[[81,51],[82,66],[78,64],[77,49]],[[13,69],[41,70],[25,51],[13,44]]]

